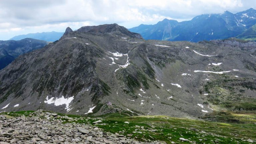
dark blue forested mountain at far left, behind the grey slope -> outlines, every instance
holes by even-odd
[[[15,41],[0,41],[0,70],[21,54],[46,46],[48,42],[26,38]]]

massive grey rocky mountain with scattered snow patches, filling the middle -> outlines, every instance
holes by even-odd
[[[175,117],[236,109],[255,103],[254,45],[146,41],[116,24],[67,29],[0,71],[0,108]]]

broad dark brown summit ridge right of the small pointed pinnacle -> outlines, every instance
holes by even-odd
[[[118,24],[104,24],[98,26],[84,26],[77,30],[78,32],[92,32],[92,33],[111,33],[111,32],[121,32],[132,38],[142,38],[138,33],[130,32],[127,28],[119,26]]]

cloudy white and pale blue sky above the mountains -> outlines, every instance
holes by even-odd
[[[15,35],[117,23],[131,28],[164,18],[256,9],[256,0],[0,0],[0,40]]]

